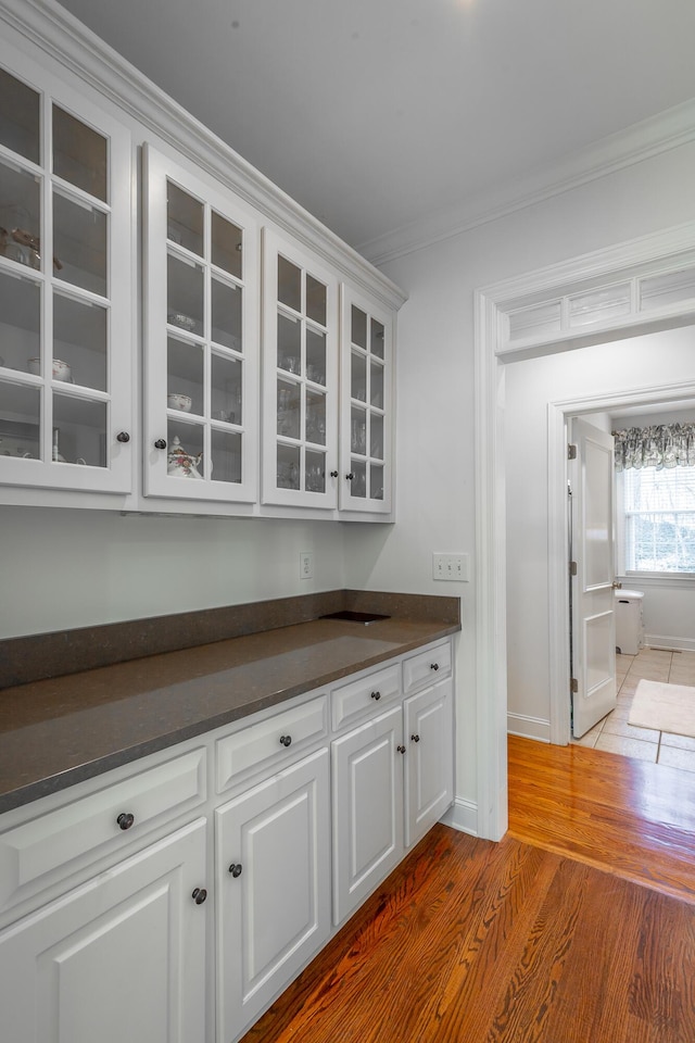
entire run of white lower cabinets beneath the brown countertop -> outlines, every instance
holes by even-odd
[[[453,734],[446,640],[0,816],[2,1043],[236,1043],[452,803]]]

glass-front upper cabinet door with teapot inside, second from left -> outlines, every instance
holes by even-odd
[[[253,212],[146,149],[147,495],[257,498]]]

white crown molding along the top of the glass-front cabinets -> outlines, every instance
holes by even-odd
[[[0,18],[390,307],[407,296],[369,261],[54,0],[0,0]]]

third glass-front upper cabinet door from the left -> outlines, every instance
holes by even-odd
[[[263,502],[334,507],[338,282],[263,231]]]

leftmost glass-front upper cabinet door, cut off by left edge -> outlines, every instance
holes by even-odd
[[[0,481],[131,489],[130,136],[0,67]]]

